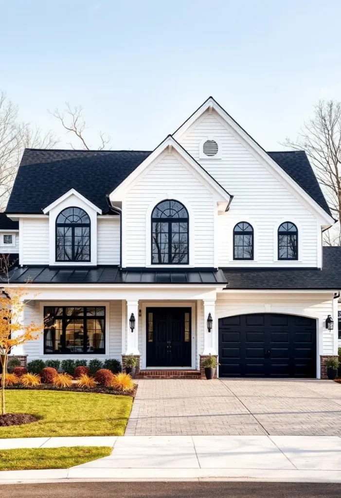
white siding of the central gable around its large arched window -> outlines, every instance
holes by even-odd
[[[126,194],[124,248],[126,266],[146,264],[146,216],[155,199],[160,201],[171,195],[184,199],[193,217],[189,223],[193,229],[194,265],[213,266],[214,226],[213,195],[173,154],[165,155]],[[154,204],[153,204],[154,205]],[[193,247],[192,247],[193,249]],[[150,254],[147,254],[150,264]]]

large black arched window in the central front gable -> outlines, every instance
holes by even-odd
[[[152,264],[188,264],[188,212],[178,201],[160,202],[151,215]]]

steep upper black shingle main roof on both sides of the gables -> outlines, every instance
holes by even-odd
[[[150,151],[136,150],[25,149],[6,212],[41,213],[71,188],[106,212],[109,207],[106,194],[149,154]],[[330,214],[305,152],[269,152],[269,155]]]

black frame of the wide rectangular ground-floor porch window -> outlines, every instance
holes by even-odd
[[[53,350],[52,352],[51,351],[48,351],[46,349],[46,337],[47,337],[47,334],[49,331],[53,331],[53,327],[52,327],[52,324],[50,324],[48,327],[44,328],[44,355],[61,355],[61,356],[75,356],[77,357],[78,355],[105,355],[106,354],[106,313],[107,313],[107,310],[106,310],[106,306],[105,305],[94,305],[94,306],[76,306],[76,305],[68,305],[68,306],[56,306],[56,305],[53,305],[53,306],[44,306],[44,317],[46,318],[46,316],[48,315],[48,312],[47,312],[47,309],[50,309],[50,308],[61,308],[63,310],[62,312],[62,315],[54,315],[53,317],[52,316],[49,316],[47,318],[47,323],[50,321],[50,320],[62,320],[62,335],[61,335],[61,338],[60,338],[60,341],[61,341],[61,351],[59,350]],[[83,309],[83,315],[67,315],[66,314],[66,309],[67,308],[82,308]],[[103,308],[104,309],[104,315],[97,315],[95,313],[95,315],[88,315],[87,314],[87,310],[88,308]],[[71,319],[75,319],[75,320],[81,320],[83,319],[83,351],[82,352],[79,352],[79,353],[75,353],[75,352],[70,352],[70,350],[66,350],[66,326],[67,326],[67,323],[66,323],[66,320],[67,320],[67,317],[68,318],[71,318]],[[98,352],[98,351],[87,351],[87,333],[88,333],[88,326],[87,326],[87,321],[88,320],[100,320],[100,319],[103,319],[104,320],[104,329],[103,329],[103,343],[104,343],[104,346],[103,346],[103,351],[102,352]],[[53,333],[53,332],[52,332]],[[52,340],[52,344],[56,341],[56,339],[51,339]],[[53,346],[54,347],[54,346]]]

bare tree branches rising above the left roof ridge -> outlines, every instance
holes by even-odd
[[[58,109],[55,109],[53,112],[49,112],[52,116],[60,121],[67,132],[76,135],[78,140],[81,142],[82,148],[84,150],[91,150],[90,143],[86,140],[84,135],[84,131],[87,129],[87,127],[82,115],[83,108],[81,106],[71,107],[68,102],[65,103],[65,106],[66,108],[62,112],[60,112]],[[110,136],[105,137],[104,133],[100,131],[100,140],[101,143],[97,147],[98,150],[110,149],[110,147],[108,147],[111,140]],[[77,148],[74,147],[71,142],[69,142],[69,145],[73,149]]]

